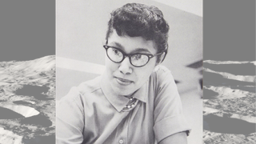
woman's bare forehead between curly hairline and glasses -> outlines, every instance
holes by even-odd
[[[118,47],[126,53],[143,51],[149,54],[156,54],[157,52],[154,48],[153,41],[146,41],[146,39],[142,37],[129,37],[127,35],[119,36],[115,30],[108,39],[108,45]]]

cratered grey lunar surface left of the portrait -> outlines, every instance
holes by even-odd
[[[54,143],[54,98],[54,55],[0,62],[0,143]]]

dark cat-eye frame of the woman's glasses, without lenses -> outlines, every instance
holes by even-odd
[[[118,50],[118,51],[120,51],[120,52],[122,53],[123,57],[122,57],[122,60],[121,60],[120,62],[113,61],[113,60],[110,58],[110,60],[111,60],[112,62],[115,62],[115,63],[121,63],[126,57],[128,57],[128,58],[129,58],[129,61],[130,61],[130,64],[131,64],[132,66],[134,66],[134,65],[132,64],[130,58],[131,58],[133,55],[141,54],[141,53],[126,54],[124,51],[122,51],[122,50],[120,50],[120,49],[118,49],[117,47],[114,47],[114,46],[103,45],[103,47],[104,47],[105,50],[106,50],[106,55],[107,55],[108,58],[110,58],[109,54],[107,54],[107,50],[108,50],[109,48]],[[165,51],[163,51],[163,52],[165,52]],[[162,52],[162,53],[163,53],[163,52]],[[148,61],[147,61],[144,65],[142,65],[142,66],[146,66],[146,64],[147,64],[148,62],[150,62],[150,58],[154,58],[155,56],[158,56],[158,55],[160,55],[160,54],[162,54],[162,53],[158,53],[158,54],[142,54],[142,55],[146,55],[146,56],[148,57]],[[135,66],[135,67],[142,67],[142,66]]]

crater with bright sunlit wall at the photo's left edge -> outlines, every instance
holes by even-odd
[[[29,118],[34,115],[40,114],[38,110],[35,110],[30,106],[18,106],[18,105],[10,105],[10,104],[0,106],[0,111],[1,111],[0,119]]]

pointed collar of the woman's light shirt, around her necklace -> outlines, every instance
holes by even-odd
[[[126,104],[130,101],[130,99],[124,96],[118,96],[118,95],[112,94],[112,91],[107,88],[108,84],[103,78],[104,77],[102,76],[100,81],[100,86],[102,88],[103,94],[106,96],[106,99],[111,103],[111,105],[114,106],[114,108],[118,110],[118,112],[121,112],[122,109],[126,106]],[[147,84],[148,82],[146,82],[141,88],[139,88],[131,96],[133,96],[134,98],[137,98],[139,101],[146,102]]]

